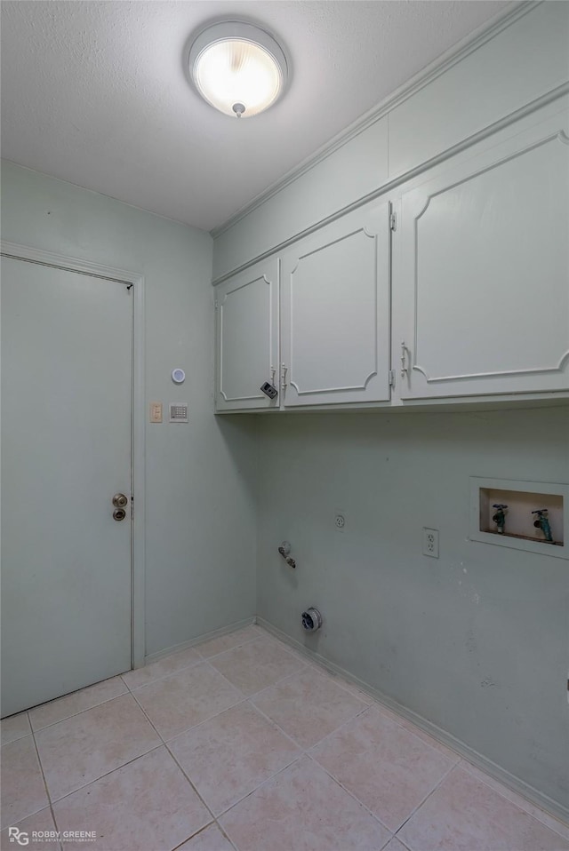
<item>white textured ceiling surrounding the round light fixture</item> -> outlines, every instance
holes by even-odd
[[[2,3],[2,155],[210,230],[509,3]],[[258,21],[293,78],[241,121],[190,88],[188,37]]]

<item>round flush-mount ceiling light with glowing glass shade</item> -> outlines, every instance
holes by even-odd
[[[263,29],[228,20],[202,30],[189,50],[189,74],[204,100],[224,115],[251,118],[282,94],[284,52]]]

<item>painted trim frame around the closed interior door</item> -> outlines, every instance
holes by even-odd
[[[0,241],[0,255],[24,260],[40,266],[51,266],[67,272],[88,274],[116,283],[132,285],[132,431],[131,479],[134,512],[131,525],[131,664],[132,668],[144,665],[145,641],[145,370],[144,370],[144,276],[113,266],[103,266],[91,260],[54,254],[52,251],[32,248],[19,243]]]

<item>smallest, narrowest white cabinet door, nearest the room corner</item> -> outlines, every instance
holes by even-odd
[[[278,375],[278,259],[215,290],[216,410],[278,408],[260,386]]]

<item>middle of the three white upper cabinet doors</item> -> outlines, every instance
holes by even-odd
[[[389,205],[366,205],[282,258],[283,404],[389,401]]]

